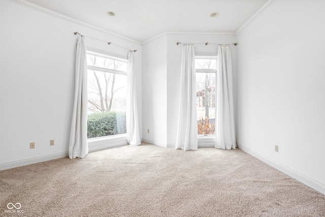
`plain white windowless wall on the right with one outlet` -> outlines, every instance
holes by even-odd
[[[240,147],[322,193],[324,8],[320,0],[276,0],[237,37]]]

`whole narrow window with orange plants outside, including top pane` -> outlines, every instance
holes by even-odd
[[[196,56],[198,135],[215,135],[216,56]]]

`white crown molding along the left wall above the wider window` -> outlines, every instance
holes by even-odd
[[[25,0],[8,0],[8,1],[17,3],[19,5],[25,6],[27,8],[30,8],[30,9],[33,9],[33,10],[36,10],[36,11],[39,11],[39,12],[42,12],[42,13],[45,13],[45,14],[50,15],[52,17],[56,17],[56,18],[59,18],[59,19],[62,19],[62,20],[68,21],[68,22],[78,24],[78,25],[86,26],[86,27],[98,30],[98,31],[100,31],[102,33],[105,33],[105,34],[108,34],[108,35],[111,35],[111,36],[115,36],[115,37],[127,40],[129,42],[133,42],[135,44],[141,45],[141,43],[136,41],[136,40],[129,39],[129,38],[125,37],[125,36],[121,36],[121,35],[112,33],[112,32],[110,32],[108,30],[103,29],[103,28],[100,28],[100,27],[97,27],[97,26],[82,22],[80,20],[76,20],[76,19],[71,18],[69,16],[66,16],[66,15],[51,11],[49,9],[46,9],[46,8],[41,7],[41,6],[38,6],[38,5],[32,4],[30,2],[27,2]],[[78,30],[78,29],[75,29],[75,30]]]

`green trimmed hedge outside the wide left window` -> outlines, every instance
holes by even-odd
[[[88,138],[126,133],[125,112],[106,111],[88,115]]]

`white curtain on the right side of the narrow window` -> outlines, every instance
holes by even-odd
[[[232,57],[229,45],[218,46],[215,147],[236,149]]]

